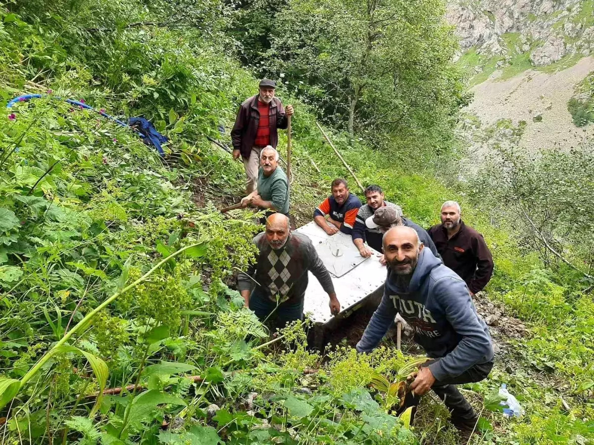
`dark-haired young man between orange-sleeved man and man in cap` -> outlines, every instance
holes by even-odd
[[[359,254],[364,258],[369,258],[373,252],[365,246],[365,241],[367,241],[369,247],[381,252],[381,237],[383,233],[377,228],[367,227],[365,224],[367,218],[373,216],[374,212],[382,207],[397,208],[400,214],[402,214],[402,209],[396,204],[385,201],[384,192],[377,185],[370,185],[365,189],[365,199],[367,200],[367,204],[362,205],[357,212],[352,238],[353,243],[359,249]]]

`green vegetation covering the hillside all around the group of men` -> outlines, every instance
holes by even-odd
[[[235,61],[249,55],[235,33],[257,7],[24,0],[0,12],[2,100],[45,94],[0,119],[3,443],[459,440],[444,423],[443,406],[429,397],[414,428],[406,416],[392,415],[390,383],[402,382],[416,357],[388,342],[368,356],[339,347],[324,358],[305,349],[298,325],[271,340],[232,289],[238,269],[253,260],[251,237],[261,227],[251,212],[215,208],[236,202],[243,174],[206,136],[217,137],[219,123],[229,128],[238,104],[254,93],[254,76]],[[431,63],[423,69],[435,68]],[[437,78],[451,79],[432,91],[463,100],[459,73],[440,63]],[[424,72],[415,70],[406,74]],[[286,88],[298,94],[291,75]],[[299,96],[315,103],[309,86]],[[285,103],[294,99],[287,89],[278,91]],[[60,97],[149,117],[171,139],[165,159]],[[485,167],[484,182],[457,183],[454,102],[437,100],[444,108],[428,122],[428,103],[408,102],[410,120],[399,138],[380,135],[389,141],[381,150],[378,136],[359,135],[357,126],[353,136],[330,135],[362,182],[384,187],[419,224],[435,223],[441,202],[459,199],[465,221],[494,253],[489,295],[529,328],[501,353],[489,379],[465,387],[483,418],[471,443],[592,443],[594,307],[589,279],[574,269],[592,265],[592,159],[551,154],[520,163],[512,155]],[[331,120],[331,112],[294,103],[292,208],[304,222],[330,180],[348,173],[315,127],[317,116]],[[506,122],[498,129],[510,128]],[[519,205],[573,268],[530,236]],[[516,213],[500,211],[508,207]],[[519,397],[524,417],[489,410],[501,383]],[[97,397],[104,387],[123,390]]]

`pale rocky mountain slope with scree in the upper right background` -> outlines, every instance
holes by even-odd
[[[467,166],[494,144],[571,150],[594,135],[587,125],[594,120],[594,0],[456,0],[446,18],[474,93],[462,129]]]

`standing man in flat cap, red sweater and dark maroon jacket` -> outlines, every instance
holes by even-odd
[[[247,176],[246,193],[253,192],[258,182],[258,159],[267,145],[276,148],[279,142],[277,129],[287,128],[287,116],[293,115],[293,106],[283,108],[274,97],[276,82],[270,79],[260,81],[260,91],[244,101],[239,107],[235,125],[231,130],[233,158],[241,155]]]

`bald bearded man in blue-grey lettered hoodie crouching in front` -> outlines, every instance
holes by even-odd
[[[479,382],[493,366],[493,345],[485,322],[476,313],[465,282],[424,249],[410,227],[394,227],[383,238],[388,275],[384,296],[356,348],[369,352],[380,343],[397,313],[415,332],[415,342],[430,360],[410,384],[404,411],[432,389],[451,412],[459,430],[475,428],[478,417],[456,384]]]

